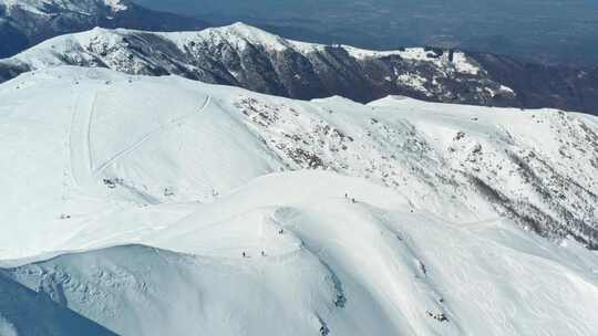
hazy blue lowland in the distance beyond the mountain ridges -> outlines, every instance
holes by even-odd
[[[285,38],[372,50],[434,45],[550,64],[598,64],[590,0],[136,0],[219,25],[243,21]]]

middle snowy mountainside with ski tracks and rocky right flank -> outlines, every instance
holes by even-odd
[[[1,87],[2,151],[19,160],[6,167],[4,189],[34,181],[41,188],[25,188],[24,198],[50,188],[48,201],[62,204],[63,192],[84,188],[143,204],[205,202],[269,172],[324,169],[396,189],[413,207],[453,220],[506,216],[545,237],[598,243],[595,117],[398,97],[301,102],[76,67],[24,74]],[[18,144],[44,150],[19,156]],[[144,166],[156,155],[168,169]],[[56,178],[29,175],[22,167],[32,162],[47,162]],[[8,209],[19,209],[19,195]]]

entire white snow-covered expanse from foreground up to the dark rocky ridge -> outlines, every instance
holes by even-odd
[[[598,256],[563,239],[594,239],[595,117],[78,67],[0,102],[2,335],[598,330]]]

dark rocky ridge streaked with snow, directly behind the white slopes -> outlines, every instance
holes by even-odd
[[[595,112],[591,74],[528,69],[506,57],[455,50],[377,52],[310,44],[243,23],[196,32],[94,29],[59,36],[0,61],[0,81],[55,65],[177,74],[301,99],[340,95],[370,102],[406,95],[445,103]],[[555,84],[563,82],[570,83],[569,88]]]

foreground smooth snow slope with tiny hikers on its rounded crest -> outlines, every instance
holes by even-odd
[[[591,335],[598,327],[590,251],[499,219],[458,225],[408,209],[401,195],[360,179],[270,175],[137,235],[169,251],[124,245],[7,273],[120,335]]]

